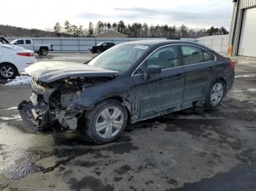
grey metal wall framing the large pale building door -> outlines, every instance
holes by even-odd
[[[236,3],[233,3],[230,36],[228,41],[228,45],[232,47],[232,55],[238,54],[238,45],[241,34],[244,9],[255,6],[256,0],[238,0]]]

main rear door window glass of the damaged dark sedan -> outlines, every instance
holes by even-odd
[[[184,65],[203,62],[203,52],[199,47],[181,45],[181,50],[184,58]]]

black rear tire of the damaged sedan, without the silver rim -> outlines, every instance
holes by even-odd
[[[222,93],[222,96],[219,97],[219,100],[214,103],[212,100],[211,100],[211,95],[213,93],[213,89],[214,89],[214,86],[217,85],[218,83],[220,83],[222,85],[222,88],[223,88],[223,93]],[[206,101],[204,103],[204,106],[207,107],[207,108],[216,108],[217,106],[219,106],[219,104],[222,103],[222,99],[225,97],[225,94],[226,94],[226,83],[222,80],[222,79],[217,79],[216,81],[214,81],[211,86],[209,87],[209,90],[208,90],[208,94],[206,96]]]

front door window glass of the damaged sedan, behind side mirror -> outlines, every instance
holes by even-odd
[[[161,66],[162,69],[168,69],[178,66],[178,47],[162,47],[154,52],[141,66],[135,71],[135,74],[143,74],[150,65]]]

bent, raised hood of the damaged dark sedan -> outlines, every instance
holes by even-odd
[[[118,71],[102,69],[83,63],[41,61],[25,68],[29,76],[40,82],[54,82],[69,77],[113,77]]]

